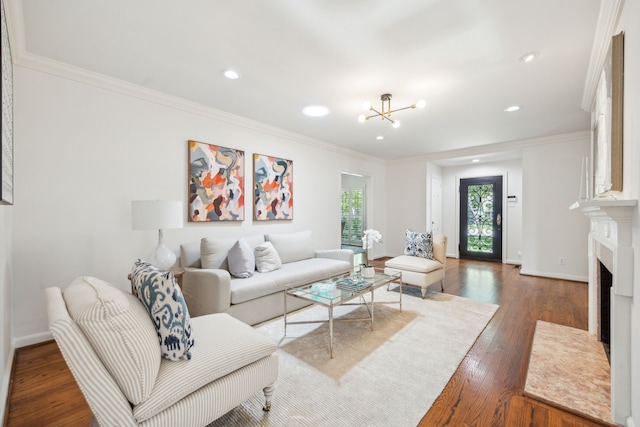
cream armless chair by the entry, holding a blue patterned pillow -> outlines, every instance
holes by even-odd
[[[427,287],[440,281],[440,289],[444,291],[444,272],[447,260],[447,236],[433,236],[433,259],[412,255],[400,255],[385,262],[385,274],[402,273],[404,285],[419,286],[422,298],[427,294]]]

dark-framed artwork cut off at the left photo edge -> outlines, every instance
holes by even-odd
[[[2,19],[2,149],[0,150],[0,203],[13,204],[13,62],[9,34],[0,2]]]

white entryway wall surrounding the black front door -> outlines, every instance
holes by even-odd
[[[449,256],[459,256],[459,180],[495,175],[503,176],[503,260],[512,264],[521,262],[523,196],[520,159],[442,168],[442,225],[444,234],[449,236]],[[517,202],[507,202],[508,195],[517,196]]]

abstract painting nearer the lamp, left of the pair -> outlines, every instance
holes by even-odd
[[[244,151],[189,141],[189,222],[244,220]]]

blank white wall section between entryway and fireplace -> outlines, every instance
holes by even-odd
[[[522,274],[588,281],[589,221],[569,206],[580,196],[581,162],[589,147],[585,132],[524,149]]]

